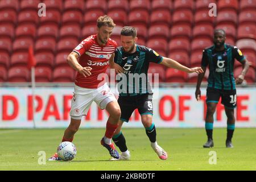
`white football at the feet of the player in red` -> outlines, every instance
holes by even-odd
[[[64,161],[72,160],[76,156],[76,146],[72,142],[61,142],[57,154]]]

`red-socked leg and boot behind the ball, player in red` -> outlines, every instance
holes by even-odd
[[[64,131],[64,135],[61,142],[72,142],[75,133],[79,130],[79,126],[81,124],[81,119],[73,119],[71,118],[71,122],[69,123],[69,126]],[[53,154],[51,158],[48,160],[61,160],[57,153]]]

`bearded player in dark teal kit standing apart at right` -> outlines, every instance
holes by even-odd
[[[226,147],[232,148],[232,137],[235,129],[234,108],[236,108],[236,84],[241,84],[245,77],[247,70],[249,69],[249,61],[242,55],[240,49],[236,46],[230,46],[225,44],[225,31],[217,29],[214,31],[213,43],[214,45],[205,48],[203,51],[203,57],[201,67],[204,73],[200,73],[195,96],[197,101],[200,100],[201,91],[200,85],[203,80],[205,70],[209,65],[209,77],[207,87],[207,115],[205,118],[205,130],[207,132],[207,143],[203,145],[204,148],[213,147],[213,114],[216,110],[218,100],[221,97],[221,104],[225,106],[225,113],[228,117],[227,138]],[[233,67],[234,59],[240,61],[243,66],[240,76],[234,79]]]

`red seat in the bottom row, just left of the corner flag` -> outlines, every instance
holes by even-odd
[[[27,67],[12,67],[8,70],[9,82],[28,82],[30,74]]]

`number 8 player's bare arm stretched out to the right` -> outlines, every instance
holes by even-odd
[[[187,73],[193,73],[193,72],[203,73],[203,69],[201,67],[188,68],[178,63],[177,61],[167,57],[163,57],[163,61],[161,62],[161,64],[165,65],[166,67],[179,69],[180,71],[187,72]]]

